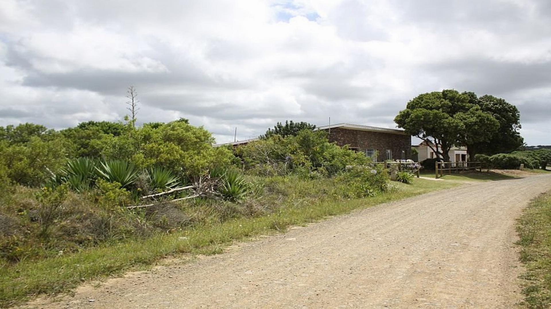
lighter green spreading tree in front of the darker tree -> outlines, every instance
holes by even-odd
[[[498,120],[474,104],[470,93],[456,90],[428,92],[413,98],[395,122],[410,135],[424,140],[445,162],[450,161],[453,146],[487,142],[499,128]]]

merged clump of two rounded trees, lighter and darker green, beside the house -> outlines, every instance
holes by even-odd
[[[474,158],[476,153],[510,152],[523,143],[518,109],[501,98],[473,92],[423,93],[408,102],[395,122],[444,161],[450,160],[453,146],[467,146]]]

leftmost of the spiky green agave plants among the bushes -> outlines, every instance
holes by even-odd
[[[69,160],[61,169],[61,182],[69,183],[75,191],[89,189],[95,178],[95,161],[90,158],[76,158]]]

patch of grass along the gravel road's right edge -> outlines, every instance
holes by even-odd
[[[521,261],[526,266],[523,305],[551,307],[551,191],[535,198],[518,222]]]

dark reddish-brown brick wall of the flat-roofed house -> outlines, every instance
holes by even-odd
[[[405,152],[406,159],[411,158],[409,135],[333,128],[328,138],[330,142],[337,142],[339,146],[348,145],[360,152],[377,150],[377,161],[386,160],[387,149],[392,150],[394,160],[403,158],[402,151]]]

